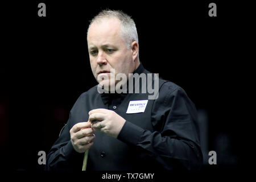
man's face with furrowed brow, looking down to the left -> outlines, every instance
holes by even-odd
[[[121,25],[116,18],[104,18],[100,22],[93,22],[88,30],[87,42],[90,57],[90,67],[94,77],[108,77],[105,80],[97,80],[101,85],[110,82],[110,69],[115,69],[118,73],[128,73],[134,71],[134,61],[131,49],[127,49],[127,43],[121,37]],[[112,75],[112,78],[115,77]],[[113,85],[113,84],[112,84]]]

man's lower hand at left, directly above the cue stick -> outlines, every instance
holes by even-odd
[[[81,122],[74,125],[69,131],[74,149],[79,153],[89,150],[93,146],[95,132],[96,130],[90,127],[90,122]]]

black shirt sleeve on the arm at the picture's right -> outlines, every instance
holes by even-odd
[[[152,106],[154,131],[144,130],[126,121],[118,139],[138,148],[142,158],[153,159],[164,169],[201,168],[203,154],[196,107],[185,91],[165,83]]]

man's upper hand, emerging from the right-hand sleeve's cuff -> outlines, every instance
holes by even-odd
[[[89,111],[91,127],[110,137],[117,138],[126,120],[112,110],[94,109]]]

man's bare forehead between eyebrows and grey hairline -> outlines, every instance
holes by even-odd
[[[117,18],[102,18],[93,22],[88,30],[89,44],[111,43],[120,36],[121,23]]]

